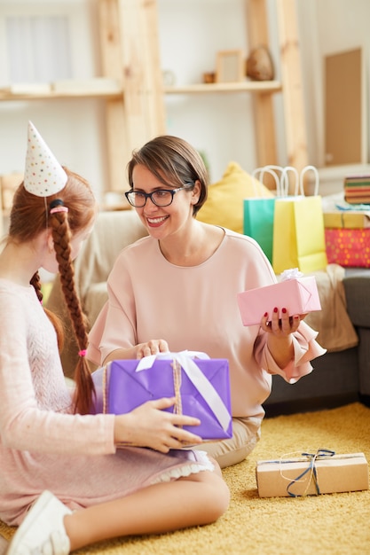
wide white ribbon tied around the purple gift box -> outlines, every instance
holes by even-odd
[[[191,380],[205,402],[209,405],[210,410],[216,416],[218,422],[224,430],[230,425],[229,411],[227,410],[224,401],[218,395],[215,387],[212,386],[210,381],[204,376],[201,369],[194,363],[193,358],[201,358],[202,360],[209,360],[209,356],[201,351],[180,351],[178,353],[158,353],[157,355],[149,355],[141,358],[136,371],[147,370],[152,368],[155,360],[176,360],[185,371],[186,376]]]

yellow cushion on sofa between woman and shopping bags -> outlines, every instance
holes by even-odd
[[[256,185],[256,188],[255,188]],[[240,168],[236,162],[229,162],[224,176],[215,184],[209,185],[208,199],[201,207],[197,218],[201,222],[221,225],[238,233],[243,232],[243,199],[255,197],[273,197],[264,184]]]

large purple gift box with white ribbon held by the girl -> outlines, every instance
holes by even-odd
[[[204,354],[198,354],[204,356]],[[95,410],[124,414],[146,401],[176,397],[169,412],[193,416],[199,426],[184,426],[204,440],[232,437],[229,363],[198,358],[191,352],[163,353],[138,360],[116,360],[92,373]]]

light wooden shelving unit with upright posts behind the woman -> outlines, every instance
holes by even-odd
[[[265,0],[245,0],[249,48],[268,44]],[[252,93],[255,101],[258,165],[277,163],[272,99],[281,93],[288,163],[307,164],[306,127],[295,0],[276,0],[281,82],[235,82],[163,86],[159,54],[156,0],[98,0],[102,76],[122,82],[122,90],[70,90],[12,94],[0,91],[0,101],[101,98],[106,104],[107,190],[119,191],[122,168],[134,148],[166,132],[165,95]]]

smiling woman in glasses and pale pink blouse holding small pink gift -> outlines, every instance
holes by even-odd
[[[259,439],[271,374],[293,383],[325,349],[303,315],[284,308],[272,306],[260,325],[241,324],[237,293],[272,285],[276,277],[256,241],[197,220],[208,175],[193,146],[156,137],[133,153],[128,178],[126,197],[149,236],[124,248],[114,263],[88,357],[102,364],[189,349],[227,358],[233,437],[201,449],[221,467],[236,464]]]

